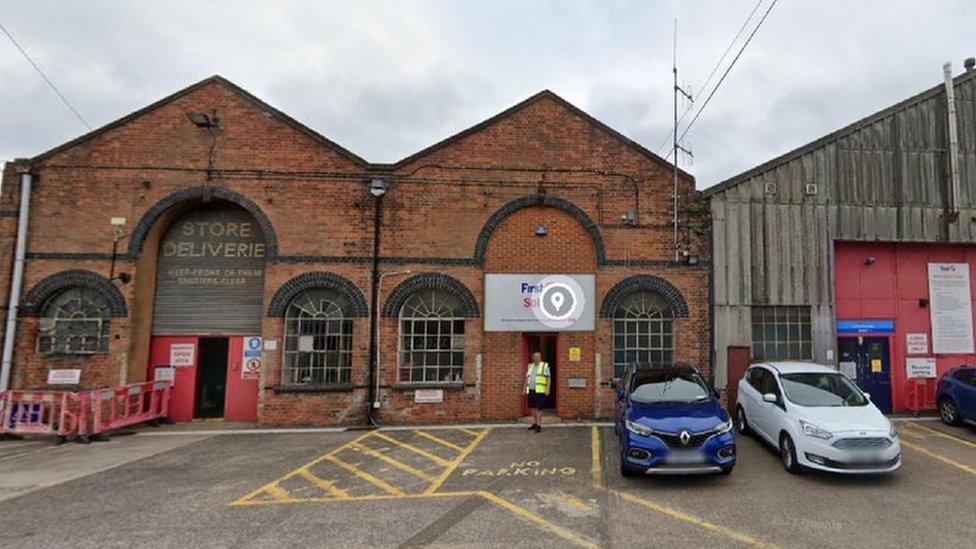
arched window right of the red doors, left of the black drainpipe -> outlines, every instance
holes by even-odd
[[[285,311],[282,383],[350,383],[352,318],[350,302],[329,288],[304,290]]]

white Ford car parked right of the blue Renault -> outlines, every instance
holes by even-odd
[[[845,376],[802,362],[754,364],[739,381],[736,427],[779,449],[790,473],[890,473],[898,432]]]

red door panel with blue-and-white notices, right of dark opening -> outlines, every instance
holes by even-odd
[[[251,364],[248,366],[249,361]],[[256,368],[255,364],[257,364]],[[260,365],[261,338],[259,336],[230,338],[227,356],[227,395],[224,398],[225,420],[256,421],[258,419]]]

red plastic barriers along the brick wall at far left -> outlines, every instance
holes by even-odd
[[[171,389],[170,382],[155,381],[77,393],[5,391],[0,433],[87,437],[160,420],[169,411]]]

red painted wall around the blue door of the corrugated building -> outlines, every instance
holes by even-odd
[[[916,402],[918,408],[934,410],[935,380],[919,386],[906,378],[905,334],[928,334],[929,354],[912,356],[936,357],[940,376],[960,364],[976,364],[976,355],[931,352],[930,311],[919,305],[920,299],[929,299],[927,265],[969,263],[972,276],[976,274],[976,246],[838,242],[835,254],[837,319],[895,321],[895,333],[889,337],[893,411],[915,410]],[[867,264],[872,257],[874,263]],[[970,293],[976,299],[972,280]]]

